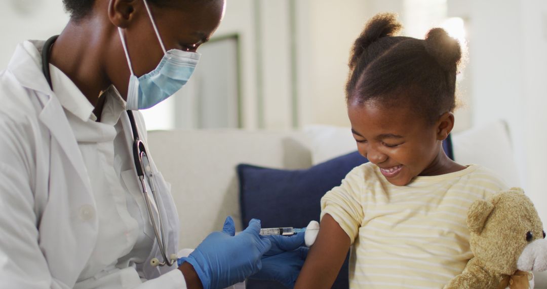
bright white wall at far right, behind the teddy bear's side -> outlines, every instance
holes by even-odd
[[[547,2],[451,0],[449,14],[469,21],[473,124],[507,120],[521,184],[547,221]]]

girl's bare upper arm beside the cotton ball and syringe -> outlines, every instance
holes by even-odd
[[[350,250],[350,237],[329,214],[323,216],[317,240],[294,288],[330,288]]]

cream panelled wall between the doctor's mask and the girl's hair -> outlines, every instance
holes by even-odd
[[[293,127],[291,33],[296,45],[298,119],[306,124],[348,125],[344,85],[354,39],[368,18],[368,3],[347,0],[295,0],[295,30],[290,0],[232,0],[217,35],[241,39],[243,126]],[[258,13],[258,14],[257,14]]]

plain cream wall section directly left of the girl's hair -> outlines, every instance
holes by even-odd
[[[353,41],[366,19],[365,1],[346,0],[333,5],[328,0],[306,0],[299,15],[298,58],[301,124],[348,125],[344,85]]]

